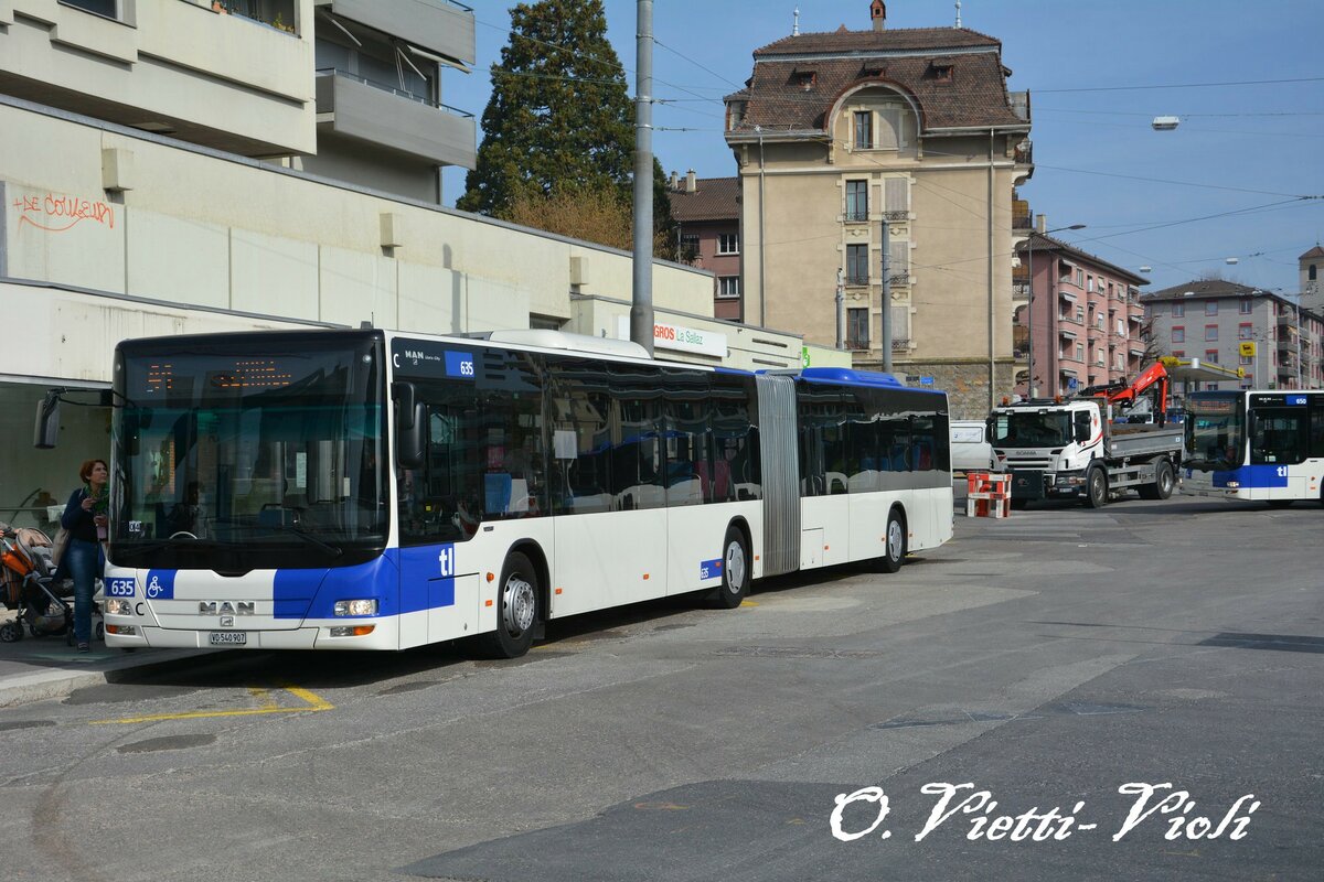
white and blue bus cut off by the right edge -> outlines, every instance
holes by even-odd
[[[1197,391],[1185,407],[1184,493],[1324,500],[1324,391]]]

